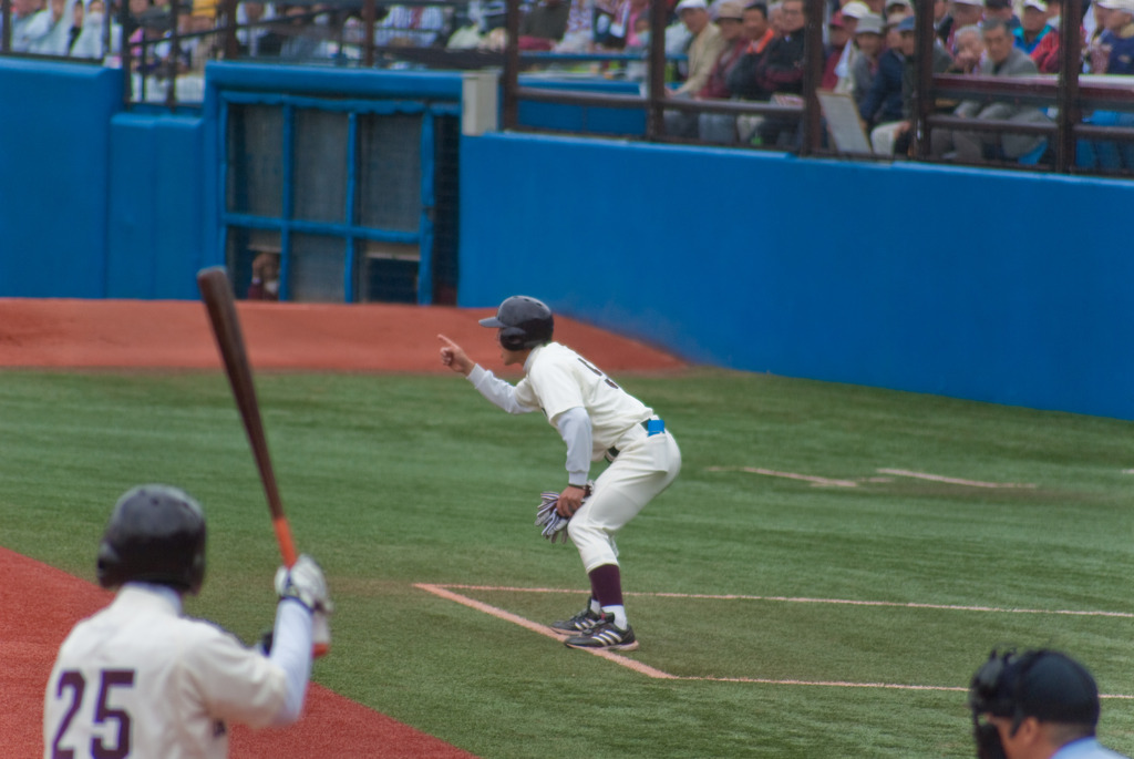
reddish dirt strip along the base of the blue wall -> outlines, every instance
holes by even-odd
[[[485,366],[500,364],[477,323],[491,309],[242,302],[237,312],[254,369],[445,372],[439,332]],[[556,319],[556,339],[611,373],[684,366],[570,319]],[[209,369],[220,356],[195,301],[0,298],[0,366]]]

